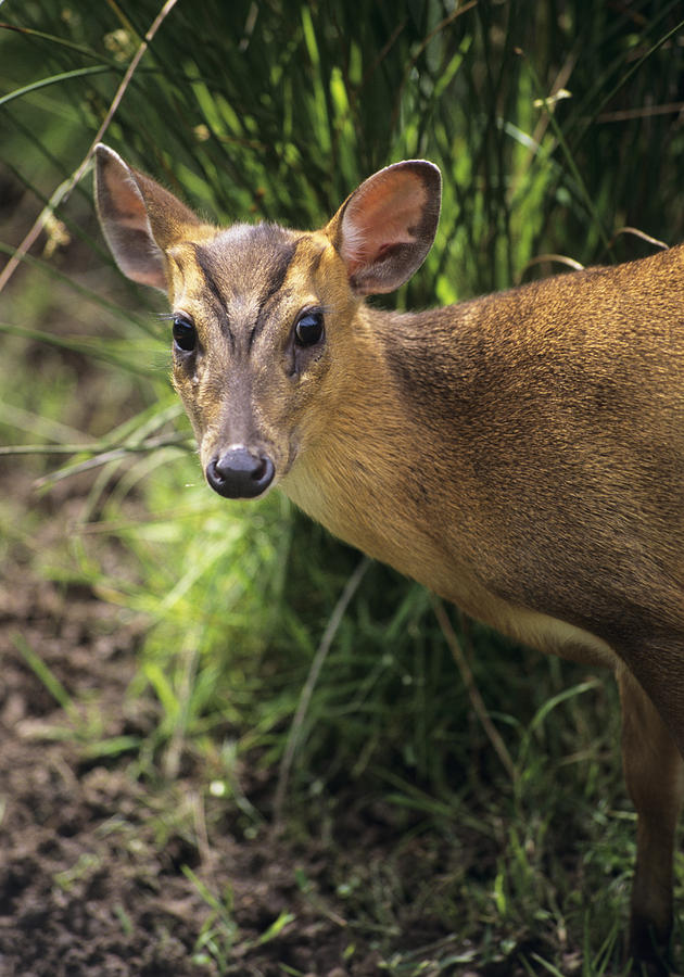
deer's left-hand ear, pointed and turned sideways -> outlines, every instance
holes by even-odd
[[[102,232],[124,275],[165,292],[164,252],[200,219],[102,143],[96,149],[96,201]]]

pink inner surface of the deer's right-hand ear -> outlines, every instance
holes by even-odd
[[[413,244],[426,203],[421,180],[391,173],[360,187],[342,218],[342,257],[350,275],[375,264],[397,244]]]

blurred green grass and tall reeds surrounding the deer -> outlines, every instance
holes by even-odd
[[[562,927],[584,973],[604,973],[634,851],[611,684],[449,611],[497,753],[430,595],[366,568],[278,494],[243,505],[206,490],[168,383],[163,301],[113,267],[90,175],[60,190],[161,7],[0,7],[8,261],[59,201],[0,295],[0,464],[17,486],[0,499],[0,551],[21,540],[38,572],[141,622],[130,694],[153,696],[160,719],[138,775],[211,761],[246,832],[273,810],[241,798],[236,758],[280,776],[292,823],[350,791],[381,797],[406,832],[460,851],[430,911],[482,960],[520,927]],[[432,160],[438,241],[383,301],[453,302],[562,257],[657,246],[625,227],[684,238],[682,16],[679,0],[178,0],[104,141],[212,219],[303,228],[375,169]],[[61,532],[31,547],[46,520]],[[497,838],[496,865],[468,864],[465,828]],[[605,916],[590,918],[598,889]]]

